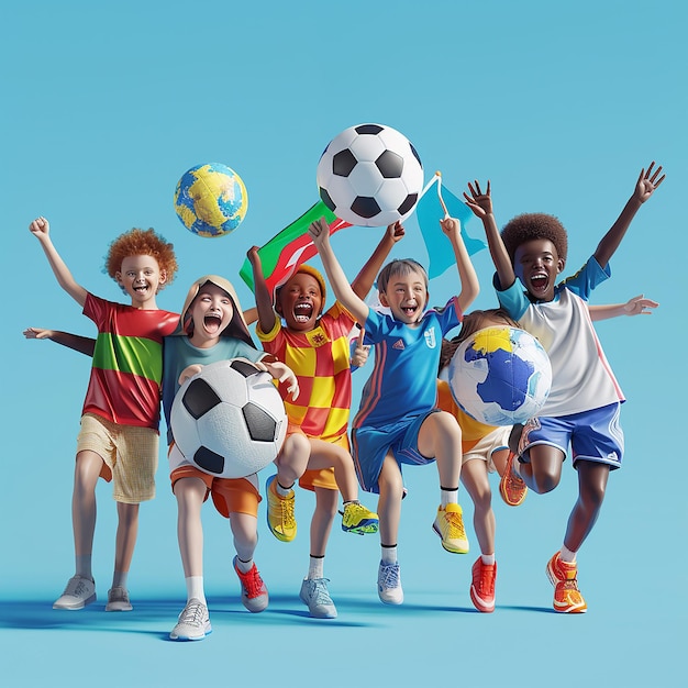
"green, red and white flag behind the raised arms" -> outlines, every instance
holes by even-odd
[[[258,248],[265,281],[270,293],[284,285],[299,265],[318,254],[318,249],[308,233],[308,228],[320,218],[324,218],[330,224],[331,235],[339,230],[352,226],[351,223],[336,218],[322,201],[318,201],[298,220],[275,235],[265,246]],[[248,258],[244,260],[238,274],[253,291],[253,269]]]

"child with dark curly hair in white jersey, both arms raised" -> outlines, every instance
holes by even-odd
[[[573,277],[556,284],[566,264],[567,238],[552,215],[519,215],[501,234],[492,213],[488,181],[464,193],[482,220],[497,275],[499,302],[520,326],[536,336],[552,363],[553,385],[542,415],[521,434],[518,460],[510,469],[533,491],[553,490],[570,445],[578,471],[578,499],[568,518],[564,544],[547,563],[557,612],[585,612],[578,589],[576,554],[600,513],[610,470],[621,466],[623,433],[619,425],[621,389],[591,324],[587,300],[611,275],[609,260],[640,207],[664,181],[662,167],[641,170],[635,189],[595,253]],[[517,280],[517,277],[519,278]],[[525,291],[523,291],[525,288]]]

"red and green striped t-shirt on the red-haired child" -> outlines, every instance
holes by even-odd
[[[106,301],[92,293],[86,297],[84,314],[98,328],[84,413],[157,430],[163,337],[176,330],[179,315]]]

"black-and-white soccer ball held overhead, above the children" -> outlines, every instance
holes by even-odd
[[[423,166],[391,126],[359,124],[335,136],[318,164],[323,203],[341,220],[387,226],[408,218],[423,189]]]

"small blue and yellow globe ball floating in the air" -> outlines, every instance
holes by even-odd
[[[242,178],[226,165],[210,163],[187,170],[177,182],[175,212],[198,236],[225,236],[246,217],[248,195]]]

